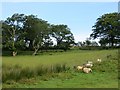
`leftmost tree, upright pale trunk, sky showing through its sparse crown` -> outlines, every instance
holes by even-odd
[[[16,44],[20,41],[18,39],[21,36],[23,21],[24,14],[16,13],[2,23],[2,43],[13,51],[13,56],[17,54]]]

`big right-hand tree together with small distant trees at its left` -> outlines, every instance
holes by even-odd
[[[91,41],[99,39],[96,41]],[[108,13],[97,18],[96,23],[92,26],[90,37],[83,42],[78,42],[80,47],[101,46],[103,48],[120,47],[120,13]]]

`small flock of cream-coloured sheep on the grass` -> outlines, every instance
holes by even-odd
[[[97,59],[98,63],[101,63],[101,59]],[[90,73],[92,72],[92,68],[93,67],[93,62],[92,61],[87,61],[85,64],[83,65],[78,65],[78,66],[74,66],[75,69],[77,69],[78,71],[83,71],[84,73]]]

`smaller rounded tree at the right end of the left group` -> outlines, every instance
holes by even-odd
[[[56,39],[57,47],[68,49],[74,43],[74,37],[67,25],[52,25],[52,37]]]

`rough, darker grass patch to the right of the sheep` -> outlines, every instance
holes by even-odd
[[[101,63],[95,62],[93,70],[95,72],[114,72],[118,73],[118,60],[119,58],[116,55],[107,55],[106,59]]]

